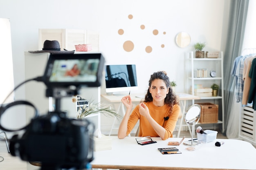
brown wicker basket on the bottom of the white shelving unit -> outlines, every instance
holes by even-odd
[[[198,103],[201,106],[201,116],[199,123],[214,124],[218,122],[218,104]]]

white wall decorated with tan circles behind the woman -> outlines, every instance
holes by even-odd
[[[24,51],[38,49],[38,29],[88,29],[99,31],[106,64],[137,65],[138,92],[147,89],[149,76],[159,70],[177,82],[176,91],[186,91],[185,53],[193,51],[196,42],[206,42],[204,51],[222,50],[228,11],[228,0],[0,0],[0,18],[11,22],[16,85],[25,77]],[[124,29],[123,35],[119,29]],[[154,29],[158,35],[153,35]],[[180,31],[191,36],[184,49],[175,44]],[[126,40],[135,44],[133,51],[124,51]],[[146,46],[153,51],[146,53]],[[16,99],[24,95],[24,88],[16,91]]]

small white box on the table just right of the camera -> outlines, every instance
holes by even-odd
[[[109,136],[101,135],[101,138],[94,137],[94,151],[111,150],[112,139]]]

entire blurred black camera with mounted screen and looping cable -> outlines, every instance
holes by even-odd
[[[46,97],[55,99],[55,110],[39,116],[36,107],[27,101],[15,101],[0,107],[0,118],[5,110],[18,104],[32,106],[35,110],[31,122],[18,129],[25,130],[23,135],[14,135],[10,139],[11,155],[40,163],[41,170],[80,170],[90,167],[94,159],[94,124],[85,119],[67,118],[60,104],[62,97],[78,95],[81,87],[100,86],[103,66],[101,53],[51,54],[44,75],[31,80],[45,83]],[[74,67],[76,74],[72,74]],[[0,128],[16,131],[2,125]]]

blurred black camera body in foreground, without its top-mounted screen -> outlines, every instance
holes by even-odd
[[[52,112],[33,119],[20,139],[12,137],[11,155],[40,162],[44,168],[85,168],[93,160],[94,124],[59,115]]]

